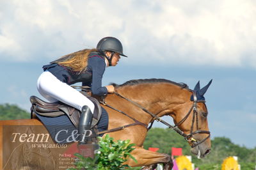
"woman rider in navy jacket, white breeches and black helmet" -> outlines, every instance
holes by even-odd
[[[93,95],[98,96],[113,93],[114,86],[102,87],[102,76],[105,68],[118,64],[120,56],[125,56],[122,43],[108,36],[99,41],[96,49],[79,50],[43,66],[44,72],[38,78],[37,89],[49,102],[60,101],[81,111],[78,128],[80,144],[90,141],[90,137],[84,136],[91,130],[94,104],[70,85],[82,82],[83,86],[92,88]]]

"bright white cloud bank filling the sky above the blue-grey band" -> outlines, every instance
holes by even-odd
[[[6,6],[0,12],[4,60],[53,59],[111,35],[122,40],[131,63],[256,68],[256,4],[251,0],[24,0],[0,6]]]

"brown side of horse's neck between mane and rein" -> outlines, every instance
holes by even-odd
[[[189,93],[175,85],[160,83],[124,86],[118,88],[117,92],[158,116],[163,116],[171,111],[170,108],[183,104]]]

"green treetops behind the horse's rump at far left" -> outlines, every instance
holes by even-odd
[[[0,120],[20,120],[29,118],[29,112],[25,111],[24,109],[20,109],[20,107],[17,105],[0,105]]]

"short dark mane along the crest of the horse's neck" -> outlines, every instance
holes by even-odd
[[[111,85],[113,85],[115,87],[122,87],[122,86],[132,86],[132,85],[143,84],[143,83],[159,83],[159,82],[167,82],[167,83],[179,86],[180,88],[188,89],[188,85],[183,82],[178,83],[178,82],[169,81],[166,79],[134,79],[131,81],[124,82],[123,84],[120,84],[120,85],[115,84],[115,83],[111,83]]]

